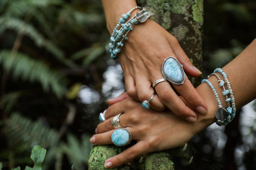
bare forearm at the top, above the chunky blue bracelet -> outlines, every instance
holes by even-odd
[[[106,16],[107,29],[112,33],[122,14],[126,14],[132,8],[137,6],[135,0],[102,0],[103,10]],[[134,10],[131,16],[134,16],[139,9]]]

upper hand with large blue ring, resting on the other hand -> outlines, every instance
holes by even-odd
[[[124,73],[127,94],[137,101],[149,100],[152,96],[154,89],[151,85],[156,80],[164,78],[161,67],[167,57],[175,57],[188,75],[196,77],[201,74],[197,68],[193,67],[177,39],[150,19],[134,26],[128,38],[118,57]],[[207,106],[187,76],[184,84],[172,85],[192,109],[206,114]],[[157,95],[150,102],[151,108],[163,111],[167,106],[178,117],[192,123],[196,121],[197,114],[181,101],[169,82],[157,84],[155,91]]]

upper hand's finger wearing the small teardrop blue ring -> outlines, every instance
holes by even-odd
[[[138,97],[141,102],[144,100],[148,101],[152,95],[155,93],[153,87],[151,87],[152,83],[146,77],[140,77],[136,81],[136,90],[138,92]],[[153,99],[148,103],[143,103],[145,108],[153,108],[157,111],[164,111],[166,106],[161,102],[158,95],[154,95]]]

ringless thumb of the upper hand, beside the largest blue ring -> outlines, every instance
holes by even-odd
[[[183,69],[186,72],[186,74],[192,76],[192,77],[198,77],[202,74],[202,72],[193,66],[190,59],[186,55],[186,53],[181,48],[178,40],[174,36],[167,36],[167,39],[169,40],[169,44],[175,53],[175,56],[177,57],[178,61],[183,65]]]

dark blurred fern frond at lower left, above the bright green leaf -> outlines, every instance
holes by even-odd
[[[4,125],[3,132],[9,145],[13,147],[26,143],[47,148],[59,142],[57,131],[43,126],[39,121],[31,121],[18,113],[12,113]]]

